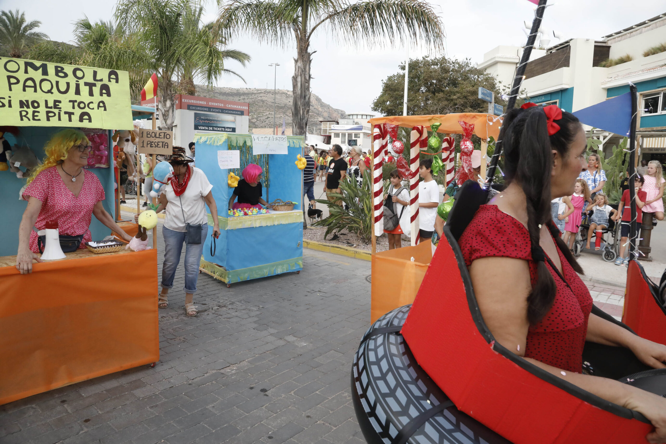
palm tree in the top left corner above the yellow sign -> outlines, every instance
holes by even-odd
[[[33,20],[26,23],[25,13],[16,11],[0,11],[0,45],[9,53],[9,57],[20,59],[29,47],[48,39],[45,33],[35,31],[41,21]]]

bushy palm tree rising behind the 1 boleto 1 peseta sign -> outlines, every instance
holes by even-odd
[[[199,28],[201,14],[200,1],[192,0],[123,0],[117,6],[116,20],[139,38],[159,77],[161,129],[173,127],[179,76],[202,77],[210,87],[223,73],[236,74],[224,68],[224,59],[243,66],[250,61],[246,53],[224,50],[219,31]]]

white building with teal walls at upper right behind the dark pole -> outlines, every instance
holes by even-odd
[[[479,66],[504,83],[513,76],[511,63],[515,70],[520,51],[497,47]],[[521,91],[533,103],[578,111],[629,92],[629,82],[639,91],[641,156],[666,163],[666,14],[599,40],[569,39],[539,51],[527,63]],[[610,141],[615,144],[621,136]]]

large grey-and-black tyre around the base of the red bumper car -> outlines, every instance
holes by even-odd
[[[400,330],[411,306],[368,329],[352,363],[352,403],[368,444],[511,444],[454,403],[418,365]]]

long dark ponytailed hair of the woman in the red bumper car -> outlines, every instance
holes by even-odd
[[[551,218],[550,177],[553,168],[551,150],[566,158],[581,124],[576,116],[562,111],[562,118],[554,120],[559,130],[548,135],[547,118],[543,107],[513,109],[504,118],[504,164],[507,184],[519,184],[527,200],[527,231],[532,260],[537,264],[537,280],[527,297],[527,319],[534,325],[547,314],[555,300],[555,280],[545,265],[545,254],[539,246],[539,230],[547,224],[555,242],[571,267],[583,269],[559,237],[559,230]]]

